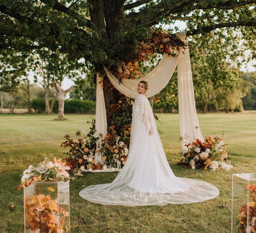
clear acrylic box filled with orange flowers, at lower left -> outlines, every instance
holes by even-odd
[[[69,181],[37,181],[24,187],[25,233],[70,232]]]

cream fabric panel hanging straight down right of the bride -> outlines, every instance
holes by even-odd
[[[201,133],[197,114],[196,104],[192,80],[192,71],[189,57],[189,49],[184,54],[179,55],[178,70],[178,100],[179,100],[179,119],[180,119],[180,135],[184,137],[186,134],[189,138],[182,141],[182,149],[184,143],[199,138],[204,140]]]

